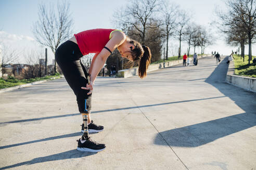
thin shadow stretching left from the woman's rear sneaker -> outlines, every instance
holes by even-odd
[[[1,146],[0,149],[11,148],[11,147],[16,147],[16,146],[20,146],[20,145],[33,144],[33,143],[37,143],[37,142],[41,142],[41,141],[47,141],[47,140],[54,140],[54,139],[60,139],[60,138],[66,138],[66,137],[81,136],[81,134],[82,134],[81,132],[76,132],[76,133],[70,133],[70,134],[66,134],[66,135],[47,137],[47,138],[44,138],[44,139],[26,141],[26,142],[19,143],[19,144],[12,144],[12,145]]]

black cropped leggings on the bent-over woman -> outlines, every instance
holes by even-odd
[[[92,94],[87,95],[89,90],[81,89],[81,87],[86,87],[88,82],[88,74],[80,61],[82,56],[78,45],[68,40],[56,50],[55,60],[76,95],[79,111],[86,112],[92,109]]]

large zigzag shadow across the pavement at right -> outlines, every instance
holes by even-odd
[[[225,97],[229,97],[245,112],[160,132],[155,138],[155,144],[165,145],[159,140],[163,138],[169,146],[197,147],[256,125],[256,94],[225,83],[228,70],[226,61],[227,58],[222,60],[205,82],[211,84]]]

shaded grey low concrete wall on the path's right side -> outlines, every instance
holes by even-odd
[[[226,82],[256,93],[256,78],[235,75],[234,62],[230,62]]]

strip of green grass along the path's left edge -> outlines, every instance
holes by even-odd
[[[9,76],[7,80],[4,80],[3,78],[0,78],[0,89],[10,88],[10,87],[18,86],[18,85],[25,84],[25,83],[31,83],[31,82],[34,82],[34,81],[48,80],[48,79],[53,78],[53,77],[60,78],[60,75],[55,74],[53,76],[36,77],[36,78],[22,79],[22,80],[18,80],[14,77],[11,77],[11,76]]]

